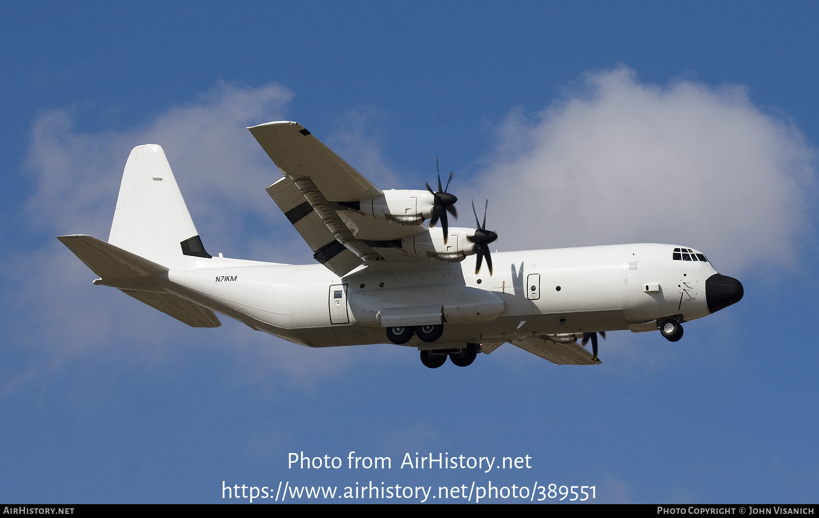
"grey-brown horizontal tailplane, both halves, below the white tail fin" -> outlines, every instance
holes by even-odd
[[[57,239],[100,276],[94,284],[118,288],[191,327],[222,325],[213,310],[165,292],[158,279],[168,271],[165,266],[90,235],[63,235]]]

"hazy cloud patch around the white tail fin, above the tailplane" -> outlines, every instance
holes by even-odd
[[[265,193],[278,170],[245,127],[282,119],[291,98],[278,84],[251,89],[220,83],[144,127],[99,134],[79,133],[67,111],[44,113],[34,123],[27,162],[37,180],[32,219],[58,233],[107,239],[131,148],[159,143],[206,247],[244,252],[247,240],[233,239],[249,230],[247,220],[254,221],[252,229],[279,216]]]

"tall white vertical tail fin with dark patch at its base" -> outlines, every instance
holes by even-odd
[[[183,256],[210,258],[161,146],[131,150],[108,243],[169,267]]]

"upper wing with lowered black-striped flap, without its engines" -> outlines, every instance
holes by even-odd
[[[398,225],[352,210],[350,205],[381,197],[382,190],[304,126],[278,121],[248,129],[285,175],[267,188],[270,198],[317,261],[343,276],[366,261],[414,260],[400,249],[400,240],[426,232],[427,227]]]

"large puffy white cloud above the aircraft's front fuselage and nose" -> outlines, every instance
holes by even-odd
[[[505,249],[678,243],[736,275],[794,266],[812,243],[816,152],[743,87],[660,87],[621,67],[497,133],[473,192],[489,193]]]

